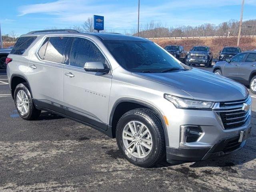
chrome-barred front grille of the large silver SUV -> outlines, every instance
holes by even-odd
[[[237,128],[246,123],[250,116],[250,109],[244,110],[244,104],[250,105],[252,99],[216,103],[213,110],[220,116],[224,129]]]

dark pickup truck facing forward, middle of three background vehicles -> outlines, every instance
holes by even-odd
[[[212,66],[212,51],[207,46],[194,46],[186,55],[185,64],[190,66],[204,64],[205,67]]]

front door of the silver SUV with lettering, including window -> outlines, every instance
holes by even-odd
[[[69,62],[63,70],[63,96],[66,115],[107,129],[111,74],[86,72],[86,62],[108,62],[89,39],[75,37]],[[108,66],[109,67],[109,66]]]

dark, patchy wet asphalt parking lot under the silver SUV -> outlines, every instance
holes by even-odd
[[[212,68],[202,68],[212,70]],[[72,120],[42,112],[22,120],[0,71],[0,191],[255,191],[256,98],[246,146],[202,162],[140,168],[116,140]]]

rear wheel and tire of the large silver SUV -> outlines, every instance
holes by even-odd
[[[41,110],[35,108],[27,83],[20,83],[16,86],[14,91],[14,102],[21,118],[25,120],[34,120],[40,116]]]

